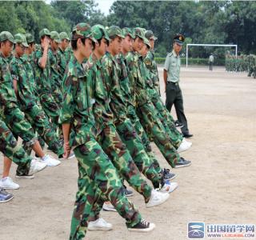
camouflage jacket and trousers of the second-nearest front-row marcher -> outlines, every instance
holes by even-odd
[[[110,82],[103,75],[102,63],[94,54],[86,62],[90,101],[94,102],[93,112],[98,130],[97,140],[112,160],[118,172],[142,194],[145,202],[150,200],[151,187],[143,180],[131,158],[126,145],[122,142],[114,126],[114,115],[110,109]],[[90,81],[89,81],[90,79]]]

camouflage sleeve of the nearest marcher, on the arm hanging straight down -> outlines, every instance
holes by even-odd
[[[63,90],[65,94],[63,97],[60,118],[58,120],[60,124],[73,122],[78,79],[74,78],[72,75],[68,75],[64,80]]]

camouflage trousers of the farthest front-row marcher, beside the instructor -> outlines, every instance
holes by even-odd
[[[178,146],[182,143],[182,134],[174,126],[174,118],[171,116],[170,112],[166,109],[166,106],[163,104],[160,98],[151,98],[152,103],[154,104],[155,109],[157,110],[157,116],[162,122],[166,133],[170,137],[170,142],[172,145],[178,149]]]

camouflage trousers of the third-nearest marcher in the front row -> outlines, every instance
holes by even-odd
[[[159,187],[161,182],[161,176],[154,169],[154,162],[146,154],[141,139],[138,137],[134,126],[130,122],[129,118],[122,119],[115,123],[115,127],[118,130],[118,134],[122,139],[122,142],[126,144],[127,149],[130,151],[131,157],[134,159],[134,163],[138,167],[138,170],[150,179],[154,187]]]

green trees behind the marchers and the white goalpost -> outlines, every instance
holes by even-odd
[[[141,26],[153,30],[158,37],[158,57],[164,57],[171,50],[176,33],[184,34],[186,43],[238,44],[239,52],[254,54],[255,12],[254,1],[115,1],[107,16],[97,9],[94,0],[52,1],[50,4],[2,1],[0,30],[13,34],[30,32],[38,41],[38,32],[43,27],[70,33],[78,22]],[[224,58],[226,51],[219,47],[191,47],[190,56],[207,58],[210,52]]]

